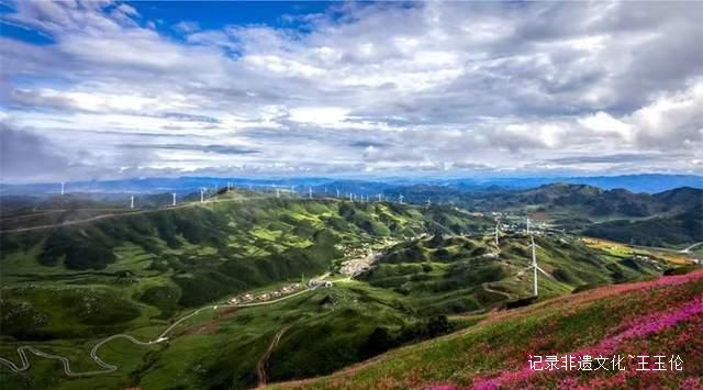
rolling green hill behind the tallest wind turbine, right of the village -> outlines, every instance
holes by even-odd
[[[576,288],[623,282],[660,274],[666,260],[643,256],[613,256],[593,249],[573,236],[537,236],[543,297]],[[531,260],[529,239],[523,234],[501,237],[435,235],[395,245],[361,278],[373,287],[405,296],[426,314],[461,313],[490,308],[532,294],[532,274],[521,275]]]

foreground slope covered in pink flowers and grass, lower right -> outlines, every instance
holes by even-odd
[[[336,375],[281,386],[701,389],[701,334],[703,270],[698,270],[499,312],[468,330],[391,352]],[[537,370],[536,365],[531,366],[531,360],[547,356],[569,357],[576,368]],[[582,360],[598,357],[609,359],[607,369],[579,369]],[[615,368],[612,360],[618,363]]]

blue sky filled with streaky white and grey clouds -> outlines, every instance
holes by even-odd
[[[702,14],[0,0],[1,181],[701,174]]]

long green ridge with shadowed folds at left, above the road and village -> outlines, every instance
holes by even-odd
[[[205,203],[3,234],[2,286],[108,288],[168,316],[226,294],[324,272],[342,257],[339,245],[487,224],[450,209],[389,203]]]

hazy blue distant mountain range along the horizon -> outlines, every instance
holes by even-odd
[[[365,196],[377,193],[401,193],[415,186],[440,188],[442,191],[487,191],[505,189],[526,189],[538,186],[563,182],[595,186],[605,190],[623,188],[632,192],[656,193],[679,187],[703,189],[703,176],[695,175],[625,175],[595,177],[532,177],[532,178],[369,178],[339,179],[324,177],[291,178],[223,178],[223,177],[179,177],[179,178],[135,178],[105,181],[71,181],[66,183],[68,192],[118,196],[124,193],[167,192],[190,193],[201,187],[224,187],[231,182],[237,187],[266,188],[288,187],[304,192],[312,188],[316,193],[336,194],[355,192]],[[0,185],[0,194],[46,196],[58,193],[60,183]],[[424,200],[423,200],[424,201]]]

